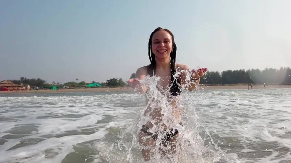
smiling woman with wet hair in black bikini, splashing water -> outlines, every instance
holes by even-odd
[[[190,70],[186,65],[176,63],[177,46],[174,41],[174,35],[170,30],[157,28],[154,30],[148,42],[148,57],[150,64],[139,68],[136,71],[136,79],[129,79],[129,84],[138,93],[147,93],[146,86],[139,81],[143,80],[147,75],[159,76],[158,89],[171,103],[172,115],[181,124],[179,110],[177,110],[176,101],[181,92],[182,86],[187,90],[193,90],[199,85],[200,78],[207,71],[207,68],[199,69],[198,71]],[[176,75],[178,74],[178,75]],[[187,79],[187,74],[191,75]],[[147,100],[149,102],[149,100]],[[167,130],[167,126],[162,122],[163,114],[161,108],[147,107],[144,116],[148,115],[152,120],[148,121],[139,133],[139,143],[142,146],[142,154],[145,161],[150,160],[151,149],[155,147],[156,140],[159,133],[150,133],[148,130],[153,128],[154,125],[162,124],[163,131]],[[170,132],[169,132],[170,131]],[[176,151],[177,138],[179,136],[178,130],[167,130],[162,144],[164,147],[171,146],[172,152]]]

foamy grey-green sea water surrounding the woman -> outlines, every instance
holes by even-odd
[[[182,94],[179,149],[148,163],[291,163],[291,89]],[[0,94],[0,163],[144,163],[145,108],[135,92]]]

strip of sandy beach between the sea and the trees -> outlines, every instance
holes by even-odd
[[[254,85],[253,89],[263,89],[263,85]],[[201,85],[198,90],[218,90],[218,89],[248,89],[248,85],[231,86],[207,86]],[[250,88],[251,89],[251,88]],[[266,89],[291,89],[291,85],[266,85]],[[2,94],[38,94],[38,93],[69,93],[69,92],[134,92],[130,87],[116,88],[85,88],[85,89],[60,89],[60,90],[18,90],[18,91],[0,91]]]

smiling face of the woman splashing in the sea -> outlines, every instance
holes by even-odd
[[[170,58],[172,52],[172,36],[165,30],[159,30],[152,37],[152,51],[156,59]]]

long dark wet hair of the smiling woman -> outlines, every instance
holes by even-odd
[[[175,74],[176,74],[176,52],[177,52],[177,46],[174,40],[174,34],[167,29],[162,29],[161,27],[158,27],[157,29],[155,29],[149,37],[149,41],[148,41],[148,58],[150,60],[150,65],[147,66],[147,74],[149,74],[150,76],[155,75],[155,71],[156,71],[156,58],[155,58],[155,54],[152,51],[152,38],[153,35],[160,30],[164,30],[167,31],[171,36],[172,36],[172,51],[170,53],[170,58],[171,58],[171,85],[172,87],[170,88],[170,92],[172,93],[173,96],[177,96],[181,90],[179,85],[177,84],[177,82],[179,83],[178,78],[175,79]]]

